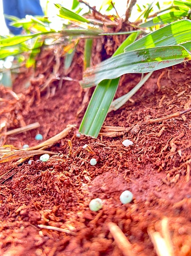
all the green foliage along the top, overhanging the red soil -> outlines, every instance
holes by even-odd
[[[154,4],[159,9],[155,15],[152,14]],[[141,29],[150,27],[151,30],[155,30],[160,25],[169,25],[137,41],[135,40],[140,30],[105,33],[107,30],[103,30],[101,21],[91,21],[79,15],[78,13],[82,9],[78,0],[72,2],[72,10],[76,11],[70,11],[60,4],[55,4],[55,6],[59,11],[58,16],[61,18],[62,28],[53,29],[51,20],[48,18],[28,17],[27,19],[18,19],[9,17],[12,20],[12,26],[23,27],[27,35],[7,38],[1,36],[0,59],[18,55],[19,60],[23,59],[23,56],[28,53],[28,57],[25,59],[26,65],[28,67],[34,66],[35,57],[40,49],[48,44],[46,40],[48,38],[52,40],[52,44],[63,44],[65,54],[64,71],[67,73],[71,67],[79,38],[85,38],[84,67],[86,70],[80,84],[83,88],[96,86],[79,129],[85,135],[97,137],[107,112],[115,110],[127,102],[129,97],[132,97],[151,75],[151,73],[147,74],[128,94],[115,99],[112,103],[122,74],[153,72],[156,69],[169,67],[191,59],[191,21],[183,19],[185,17],[190,19],[191,0],[174,0],[171,5],[165,6],[163,9],[160,1],[147,4],[143,11],[138,6],[139,11],[142,12],[139,18],[142,17],[146,21],[139,26]],[[113,9],[111,1],[103,1],[101,10],[104,9],[105,11]],[[107,21],[111,20],[111,27],[114,18],[107,17]],[[89,67],[92,54],[92,38],[101,35],[120,34],[130,35],[115,51],[112,58],[95,67]],[[68,43],[68,45],[66,46],[65,43]],[[22,53],[25,54],[22,56]]]

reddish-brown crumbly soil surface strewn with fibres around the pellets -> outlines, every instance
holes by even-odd
[[[69,74],[76,80],[82,77],[80,58]],[[45,141],[69,124],[77,126],[46,149],[56,153],[48,161],[37,155],[30,158],[31,164],[27,160],[0,165],[0,254],[129,255],[109,230],[109,223],[115,223],[129,241],[131,255],[160,255],[160,238],[171,250],[167,255],[191,255],[190,69],[187,63],[154,72],[134,97],[107,115],[104,126],[124,131],[97,139],[77,135],[85,113],[83,109],[77,115],[84,98],[78,82],[63,81],[62,87],[52,82],[41,94],[40,79],[26,91],[17,84],[18,105],[13,104],[17,108],[9,115],[8,129],[34,122],[40,127],[6,136],[4,145],[32,147],[39,144],[38,133]],[[116,97],[140,77],[122,76]],[[124,139],[134,144],[125,147]],[[89,148],[84,149],[85,144]],[[95,166],[89,163],[92,158]],[[134,195],[126,205],[119,200],[124,190]],[[94,198],[103,200],[98,212],[89,210]]]

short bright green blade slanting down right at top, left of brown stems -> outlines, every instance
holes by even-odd
[[[55,6],[59,9],[59,13],[60,13],[59,17],[61,17],[61,18],[68,19],[68,20],[75,20],[75,21],[79,21],[79,22],[90,23],[89,20],[85,19],[84,17],[81,17],[80,15],[78,15],[75,12],[68,10],[67,8],[64,8],[60,4],[55,4]]]

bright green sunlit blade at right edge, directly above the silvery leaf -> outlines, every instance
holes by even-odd
[[[125,52],[156,46],[176,45],[191,40],[191,21],[179,20],[146,35],[127,46]]]

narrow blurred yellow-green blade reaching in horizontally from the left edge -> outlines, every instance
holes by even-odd
[[[20,43],[26,42],[27,40],[34,38],[36,36],[45,35],[45,34],[49,34],[49,33],[51,33],[51,32],[37,33],[37,34],[26,35],[26,36],[9,37],[9,38],[0,40],[0,47],[20,44]]]

